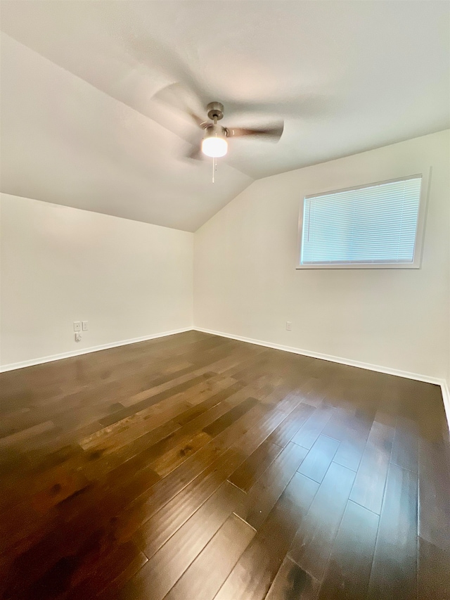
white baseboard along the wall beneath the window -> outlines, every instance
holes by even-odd
[[[247,342],[250,344],[256,344],[258,346],[274,348],[275,350],[293,352],[293,354],[297,355],[309,356],[311,358],[319,358],[321,360],[329,360],[330,362],[338,362],[340,364],[346,364],[347,366],[356,366],[358,369],[368,369],[368,371],[378,371],[378,373],[385,373],[387,375],[395,375],[397,377],[405,377],[406,379],[415,379],[416,381],[424,381],[425,383],[434,383],[435,385],[440,385],[442,390],[442,399],[444,400],[446,419],[450,431],[450,392],[449,386],[447,385],[445,379],[440,379],[438,377],[430,377],[428,375],[422,375],[418,373],[411,373],[410,371],[400,371],[399,369],[392,369],[390,366],[380,366],[378,364],[359,362],[356,360],[345,359],[333,355],[324,355],[321,354],[321,352],[310,352],[309,350],[302,350],[301,348],[283,346],[281,344],[271,344],[269,342],[263,342],[262,340],[244,338],[243,336],[232,336],[230,333],[223,333],[222,331],[212,331],[212,329],[205,329],[203,327],[194,327],[194,329],[195,331],[203,331],[203,333],[212,333],[213,336],[221,336],[222,338],[230,338],[231,340],[238,340],[240,342]]]

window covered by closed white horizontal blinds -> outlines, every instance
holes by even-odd
[[[306,196],[299,268],[418,268],[424,187],[413,175]]]

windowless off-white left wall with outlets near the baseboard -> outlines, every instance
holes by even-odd
[[[1,194],[0,365],[192,326],[193,234]],[[75,343],[72,321],[89,321]]]

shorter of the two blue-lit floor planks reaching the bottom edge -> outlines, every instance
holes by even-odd
[[[348,502],[333,544],[319,600],[366,597],[378,532],[378,515]]]

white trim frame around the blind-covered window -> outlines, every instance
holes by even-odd
[[[308,193],[300,200],[300,211],[298,219],[298,243],[297,243],[297,266],[296,269],[420,269],[422,266],[423,241],[425,238],[425,222],[427,215],[428,196],[430,192],[432,167],[429,170],[424,170],[422,173],[403,175],[394,179],[383,179],[383,181],[374,181],[371,184],[359,186],[351,186],[342,189],[330,189],[319,193]],[[330,196],[333,193],[344,191],[353,191],[358,189],[370,188],[383,184],[393,184],[397,181],[405,181],[406,179],[414,179],[421,177],[419,210],[417,217],[416,243],[414,244],[413,262],[335,262],[335,263],[318,263],[318,264],[302,264],[302,231],[303,231],[303,213],[304,200],[308,198],[318,198],[319,196]]]

